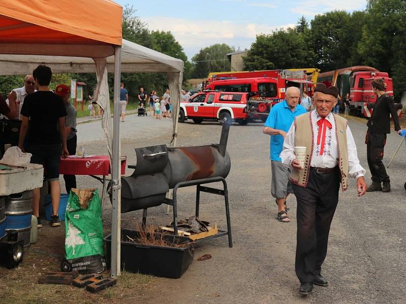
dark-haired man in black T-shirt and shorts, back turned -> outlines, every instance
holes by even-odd
[[[60,200],[59,163],[60,158],[69,155],[66,147],[65,105],[61,97],[49,90],[52,71],[48,66],[39,65],[33,70],[37,92],[25,97],[21,108],[21,129],[18,147],[23,150],[28,135],[27,151],[32,154],[31,163],[44,166],[45,176],[51,187],[52,227],[60,226],[58,208]],[[29,121],[29,128],[28,128]],[[40,188],[32,192],[32,214],[39,216]],[[38,226],[42,227],[38,218]]]

